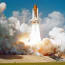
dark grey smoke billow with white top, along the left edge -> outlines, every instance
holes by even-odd
[[[19,34],[20,24],[15,17],[10,17],[8,20],[2,16],[0,18],[0,48],[10,49],[12,43],[16,41],[15,37]]]

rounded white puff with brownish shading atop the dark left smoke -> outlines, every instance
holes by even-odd
[[[16,17],[10,17],[8,19],[8,24],[10,27],[10,34],[13,35],[15,32],[19,32],[20,31],[20,22]]]

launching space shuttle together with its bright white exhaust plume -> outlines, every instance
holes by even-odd
[[[41,41],[40,27],[39,27],[39,17],[38,17],[38,7],[35,4],[32,9],[32,19],[31,19],[31,34],[30,34],[30,44],[31,46],[37,45]]]

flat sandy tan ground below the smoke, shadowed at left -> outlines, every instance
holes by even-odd
[[[49,56],[36,55],[0,55],[0,63],[42,63],[56,62],[57,60]]]

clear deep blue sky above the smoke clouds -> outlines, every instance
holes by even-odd
[[[37,0],[39,12],[43,13],[43,16],[47,16],[48,13],[53,11],[59,11],[65,15],[65,0]],[[35,0],[0,0],[0,2],[6,2],[7,8],[4,14],[8,17],[12,15],[13,11],[21,11],[22,9],[29,9],[32,11]]]

